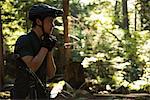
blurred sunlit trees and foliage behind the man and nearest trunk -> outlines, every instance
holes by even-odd
[[[0,1],[6,80],[14,76],[11,58],[14,43],[30,30],[27,11],[37,2],[63,7],[62,0]],[[71,61],[82,64],[86,79],[114,88],[150,87],[150,1],[70,0],[69,3]],[[61,41],[55,50],[56,63],[58,73],[63,74],[62,19],[57,19],[55,33]]]

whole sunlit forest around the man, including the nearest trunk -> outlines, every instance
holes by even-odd
[[[63,97],[77,100],[111,93],[146,93],[137,100],[148,100],[150,1],[68,0],[67,6],[63,1],[67,0],[0,0],[0,91],[14,83],[14,44],[31,30],[29,8],[47,3],[59,9],[68,6],[68,40],[63,19],[55,21],[57,73],[49,88],[64,86]]]

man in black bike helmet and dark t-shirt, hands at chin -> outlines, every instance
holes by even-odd
[[[20,36],[15,44],[17,56],[14,99],[45,99],[46,94],[40,82],[46,87],[46,75],[52,78],[56,72],[52,49],[56,38],[52,36],[56,17],[63,11],[47,4],[33,5],[29,10],[32,30]],[[35,76],[34,76],[35,73]]]

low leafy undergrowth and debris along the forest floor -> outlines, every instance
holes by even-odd
[[[148,87],[147,87],[148,88]],[[112,89],[109,85],[99,85],[93,82],[85,82],[78,89],[73,89],[67,82],[59,81],[58,83],[47,84],[47,89],[50,91],[50,97],[53,100],[149,100],[149,91],[129,90],[129,88],[120,86]],[[11,92],[0,92],[0,99],[10,99]]]

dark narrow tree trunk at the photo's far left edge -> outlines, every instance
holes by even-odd
[[[0,91],[3,87],[3,77],[4,77],[4,59],[3,59],[3,36],[2,36],[1,7],[0,7]]]

